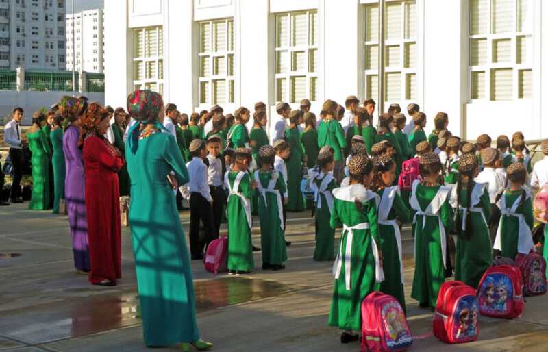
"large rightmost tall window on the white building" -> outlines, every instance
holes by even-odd
[[[470,0],[470,98],[532,97],[532,1]]]

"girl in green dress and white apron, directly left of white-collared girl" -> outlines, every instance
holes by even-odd
[[[334,201],[332,191],[338,187],[331,174],[334,167],[333,149],[323,147],[318,155],[318,165],[309,173],[310,186],[316,194],[314,260],[318,261],[335,259],[335,229],[329,222]]]

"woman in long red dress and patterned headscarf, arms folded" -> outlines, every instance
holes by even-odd
[[[121,277],[121,224],[118,171],[120,152],[103,135],[109,127],[108,111],[91,103],[84,116],[80,143],[84,144],[86,210],[91,271],[94,285],[115,286]]]

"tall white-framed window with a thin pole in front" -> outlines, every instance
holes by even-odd
[[[378,97],[379,7],[365,8],[365,94]],[[384,8],[384,99],[416,99],[416,1],[390,1]]]

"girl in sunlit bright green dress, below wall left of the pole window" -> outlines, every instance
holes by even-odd
[[[332,147],[335,151],[335,168],[333,175],[337,182],[344,177],[344,151],[347,147],[347,140],[345,138],[345,131],[341,127],[340,123],[336,120],[337,116],[337,103],[327,99],[323,103],[322,110],[325,111],[325,119],[318,127],[318,147],[327,145]]]

